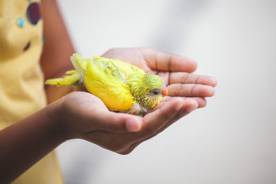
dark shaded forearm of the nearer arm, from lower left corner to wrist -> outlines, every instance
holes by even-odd
[[[0,131],[0,183],[10,183],[66,141],[57,103]]]

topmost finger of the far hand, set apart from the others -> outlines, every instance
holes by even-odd
[[[197,62],[193,59],[152,49],[140,50],[152,70],[194,72],[197,69]]]

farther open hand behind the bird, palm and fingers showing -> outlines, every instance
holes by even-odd
[[[148,48],[115,48],[105,52],[102,57],[119,59],[147,73],[161,76],[168,88],[168,97],[164,101],[170,101],[170,96],[190,97],[197,101],[198,108],[203,108],[206,106],[205,97],[215,94],[217,80],[212,76],[191,73],[197,68],[193,59]]]

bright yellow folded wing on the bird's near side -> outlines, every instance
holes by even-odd
[[[126,84],[128,68],[119,68],[113,59],[88,61],[84,83],[87,90],[98,96],[110,110],[129,110],[135,101]],[[126,70],[126,72],[122,72]]]

